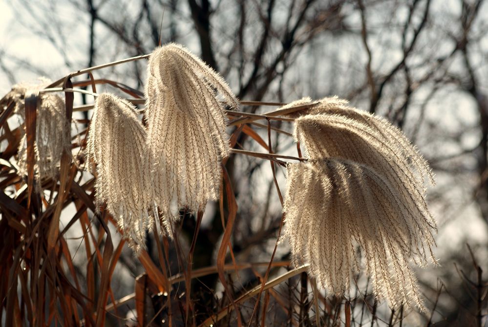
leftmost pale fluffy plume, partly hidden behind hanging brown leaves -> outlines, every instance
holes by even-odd
[[[25,95],[27,92],[40,91],[50,83],[47,79],[41,79],[37,84],[20,83],[15,85],[7,97],[15,101],[15,112],[25,118]],[[41,187],[44,178],[56,178],[59,174],[59,166],[63,152],[70,152],[71,140],[70,124],[66,121],[66,108],[64,100],[54,93],[41,93],[38,98],[36,110],[36,137],[35,149],[35,178],[37,187]],[[18,165],[19,174],[27,175],[27,138],[25,130],[21,130],[23,136],[19,144]]]

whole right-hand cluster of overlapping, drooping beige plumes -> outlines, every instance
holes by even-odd
[[[427,163],[402,131],[343,100],[307,110],[315,114],[297,118],[294,137],[311,161],[289,165],[284,205],[295,263],[310,262],[324,288],[343,294],[361,249],[378,297],[422,307],[409,262],[435,262]]]

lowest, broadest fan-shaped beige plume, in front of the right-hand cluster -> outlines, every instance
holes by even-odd
[[[351,160],[290,164],[284,211],[294,263],[309,262],[329,294],[342,295],[361,269],[360,249],[376,296],[393,307],[422,307],[409,263],[430,253],[433,228],[409,201],[382,174]]]

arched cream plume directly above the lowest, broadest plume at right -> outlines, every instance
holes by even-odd
[[[430,170],[410,144],[395,142],[357,120],[336,114],[306,115],[296,120],[294,137],[305,145],[310,158],[338,157],[369,165],[381,172],[398,192],[407,195],[408,206],[434,224],[424,200],[424,178]]]

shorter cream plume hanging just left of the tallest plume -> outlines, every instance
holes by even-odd
[[[144,247],[152,220],[148,213],[146,131],[135,107],[115,95],[101,94],[95,102],[86,148],[90,168],[98,175],[96,203],[106,202],[129,245],[137,251]]]

